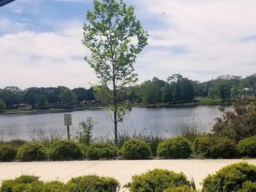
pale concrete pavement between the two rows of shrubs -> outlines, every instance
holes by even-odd
[[[0,162],[0,180],[14,179],[21,174],[34,174],[40,180],[67,182],[72,177],[87,174],[114,177],[121,186],[130,182],[134,174],[141,174],[154,168],[183,172],[188,179],[194,176],[196,188],[208,175],[222,167],[248,162],[256,165],[256,159],[207,159],[207,160],[104,160],[104,161],[55,161],[55,162]],[[120,192],[128,192],[123,188]]]

